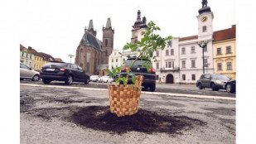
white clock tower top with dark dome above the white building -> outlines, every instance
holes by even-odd
[[[207,0],[202,0],[202,7],[198,11],[198,39],[199,40],[211,40],[213,36],[213,12],[210,11],[210,7],[207,7]]]

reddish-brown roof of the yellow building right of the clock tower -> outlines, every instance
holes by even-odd
[[[231,28],[215,31],[213,34],[214,41],[224,41],[235,38],[236,26],[233,25]]]

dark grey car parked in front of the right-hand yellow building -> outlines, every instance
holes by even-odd
[[[224,89],[229,78],[224,74],[201,74],[196,86],[199,89],[211,88],[212,90]]]

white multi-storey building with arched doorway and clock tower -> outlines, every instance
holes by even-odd
[[[153,62],[157,80],[169,84],[196,84],[203,74],[203,52],[198,41],[208,41],[204,51],[205,73],[214,73],[213,68],[213,12],[202,7],[197,16],[198,35],[182,38],[173,37],[166,41],[164,50],[159,49]]]

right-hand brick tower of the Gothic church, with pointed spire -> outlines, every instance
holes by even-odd
[[[108,18],[106,27],[103,26],[102,31],[102,49],[104,50],[102,58],[104,64],[109,64],[109,55],[111,55],[114,48],[114,29],[112,29],[110,18]]]

